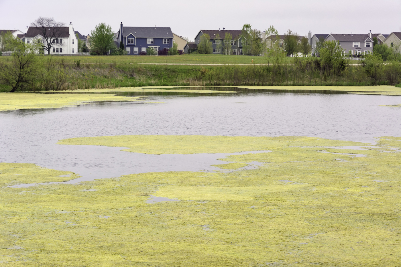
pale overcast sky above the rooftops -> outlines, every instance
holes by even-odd
[[[401,32],[401,0],[0,0],[0,29],[26,32],[39,16],[73,23],[87,35],[100,22],[125,26],[164,26],[194,39],[199,30],[239,30],[244,23],[280,34]]]

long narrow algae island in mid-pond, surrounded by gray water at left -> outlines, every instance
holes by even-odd
[[[269,150],[284,146],[360,146],[359,142],[313,137],[251,136],[97,136],[59,140],[61,145],[126,147],[122,151],[145,154],[234,153]]]

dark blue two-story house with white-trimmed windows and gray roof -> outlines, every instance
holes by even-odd
[[[170,49],[173,46],[173,34],[170,27],[123,27],[121,22],[117,32],[117,43],[121,40],[128,55],[139,55],[147,48],[156,51]],[[156,54],[157,55],[157,54]]]

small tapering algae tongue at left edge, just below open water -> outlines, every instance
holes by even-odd
[[[60,175],[68,177],[59,177]],[[30,163],[0,163],[0,186],[64,182],[81,177],[73,172],[52,170]]]

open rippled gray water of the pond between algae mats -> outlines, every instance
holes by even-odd
[[[312,136],[373,142],[401,135],[401,96],[237,93],[150,95],[159,104],[102,103],[0,112],[0,162],[35,163],[82,180],[161,171],[213,170],[227,154],[148,155],[65,138],[111,135]],[[147,100],[148,100],[147,99]],[[216,168],[214,168],[216,169]]]

